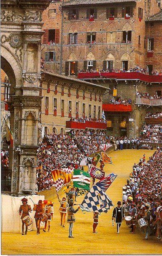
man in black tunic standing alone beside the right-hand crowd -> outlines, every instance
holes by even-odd
[[[117,234],[119,234],[119,228],[121,226],[122,220],[124,220],[124,209],[121,207],[121,202],[117,202],[117,206],[113,209],[112,220],[115,218],[117,224]]]

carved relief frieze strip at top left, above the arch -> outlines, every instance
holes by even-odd
[[[1,22],[22,22],[24,19],[22,14],[18,14],[18,11],[0,11],[0,20]]]

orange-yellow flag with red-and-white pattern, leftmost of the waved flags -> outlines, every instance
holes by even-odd
[[[62,188],[63,185],[69,183],[72,179],[72,173],[66,173],[63,170],[54,169],[53,171],[51,171],[51,173],[57,192],[59,191],[59,189]]]

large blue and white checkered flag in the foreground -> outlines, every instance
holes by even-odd
[[[113,203],[100,187],[95,184],[92,186],[88,194],[86,194],[83,202],[81,203],[81,210],[95,211],[95,212],[108,212]]]

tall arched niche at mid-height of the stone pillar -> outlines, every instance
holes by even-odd
[[[25,120],[24,144],[34,145],[34,141],[35,141],[35,119],[32,113],[29,113]]]

